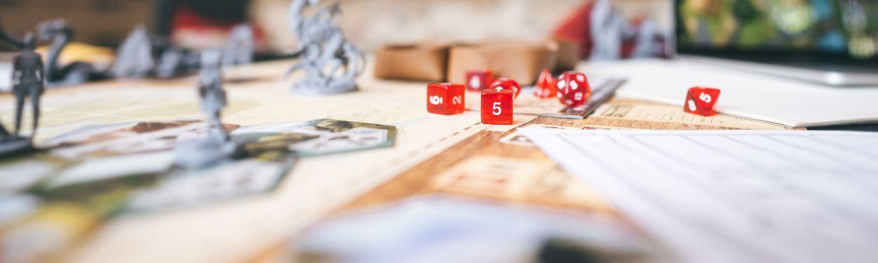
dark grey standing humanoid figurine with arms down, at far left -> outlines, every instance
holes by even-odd
[[[36,39],[32,33],[27,33],[24,39],[24,48],[15,56],[12,70],[12,93],[15,94],[15,131],[18,136],[21,128],[21,113],[24,111],[25,98],[31,96],[32,130],[31,139],[37,134],[37,125],[40,123],[40,96],[43,95],[43,59],[40,53],[33,51],[36,48]]]

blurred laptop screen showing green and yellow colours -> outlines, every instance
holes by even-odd
[[[878,62],[878,1],[674,0],[674,11],[679,53]]]

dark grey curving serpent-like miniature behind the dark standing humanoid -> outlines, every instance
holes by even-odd
[[[61,51],[73,38],[73,29],[64,19],[54,19],[37,25],[40,40],[52,40],[47,65],[46,82],[50,85],[72,85],[103,78],[90,63],[77,61],[61,67],[58,62]]]

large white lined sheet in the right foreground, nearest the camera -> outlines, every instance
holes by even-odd
[[[878,133],[521,132],[683,261],[878,259]]]

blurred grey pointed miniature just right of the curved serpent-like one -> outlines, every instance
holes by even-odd
[[[110,68],[111,74],[118,78],[143,78],[149,75],[155,67],[151,41],[146,26],[137,25],[119,46],[116,61]]]

